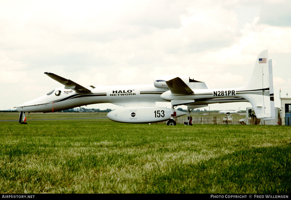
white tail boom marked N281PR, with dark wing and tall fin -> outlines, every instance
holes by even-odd
[[[179,77],[166,81],[166,84],[170,91],[164,92],[161,98],[171,101],[172,109],[174,106],[187,105],[189,113],[195,105],[246,101],[251,103],[258,119],[275,118],[272,60],[268,59],[268,50],[259,53],[251,80],[243,87],[191,89]]]

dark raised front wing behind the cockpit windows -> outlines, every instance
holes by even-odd
[[[91,93],[92,91],[75,83],[74,81],[71,81],[69,79],[65,79],[61,76],[58,76],[54,73],[49,73],[49,72],[45,72],[46,75],[48,75],[50,78],[56,80],[57,82],[63,84],[65,86],[65,89],[72,89],[75,92],[79,92],[79,93]]]

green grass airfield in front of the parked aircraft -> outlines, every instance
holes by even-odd
[[[61,120],[80,116],[89,119]],[[0,122],[0,193],[291,192],[290,127],[123,124],[99,116]]]

